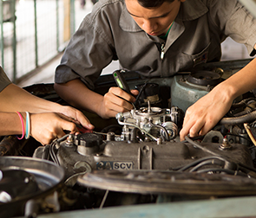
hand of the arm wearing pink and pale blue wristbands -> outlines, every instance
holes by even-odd
[[[74,119],[57,113],[30,113],[30,135],[41,144],[50,144],[55,138],[62,138],[66,131],[79,132]]]

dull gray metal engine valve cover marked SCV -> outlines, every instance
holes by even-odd
[[[250,151],[245,145],[233,144],[233,149],[230,151],[220,151],[220,144],[217,143],[203,143],[201,146],[220,154],[230,162],[253,166]],[[95,147],[87,148],[93,151],[82,155],[77,151],[76,144],[66,146],[65,141],[61,143],[56,155],[65,169],[66,178],[84,170],[84,167],[74,167],[78,162],[89,165],[92,170],[171,170],[192,163],[201,157],[211,156],[192,144],[178,142],[130,144],[124,141],[104,141]],[[44,147],[39,147],[34,157],[42,157],[43,149]]]

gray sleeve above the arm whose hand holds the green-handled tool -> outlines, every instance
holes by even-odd
[[[61,64],[56,67],[56,83],[80,79],[87,87],[94,89],[95,80],[115,55],[109,36],[111,29],[106,23],[108,19],[94,13],[83,19],[65,49]]]

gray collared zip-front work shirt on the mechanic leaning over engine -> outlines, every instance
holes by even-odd
[[[80,78],[93,89],[102,68],[113,60],[143,77],[172,76],[204,62],[220,61],[220,43],[227,36],[245,44],[249,53],[253,51],[256,20],[236,0],[181,3],[166,42],[137,25],[124,0],[102,0],[71,38],[55,80],[64,83]]]

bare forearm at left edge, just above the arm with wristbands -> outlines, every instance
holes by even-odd
[[[59,112],[61,106],[46,99],[38,98],[14,84],[0,93],[1,112]]]

